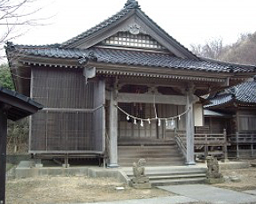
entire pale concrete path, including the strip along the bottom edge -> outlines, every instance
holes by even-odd
[[[93,204],[252,204],[256,203],[256,190],[238,193],[235,191],[213,187],[210,185],[169,185],[160,186],[160,189],[176,196],[158,197],[152,199],[116,200],[108,202],[94,202]],[[91,204],[91,203],[82,203]]]

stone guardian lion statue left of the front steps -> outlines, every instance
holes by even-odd
[[[145,176],[145,164],[145,159],[133,163],[134,177],[131,182],[135,188],[151,188],[150,179]]]

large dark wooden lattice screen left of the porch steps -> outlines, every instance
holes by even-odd
[[[30,153],[103,153],[105,82],[86,84],[80,69],[35,67],[31,78],[32,98],[46,108],[31,119]]]

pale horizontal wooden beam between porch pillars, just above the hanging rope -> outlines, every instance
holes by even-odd
[[[143,102],[143,103],[155,102],[159,104],[186,105],[186,96],[119,93],[117,96],[117,102]]]

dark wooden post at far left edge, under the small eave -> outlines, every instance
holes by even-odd
[[[7,117],[0,104],[0,204],[5,203]]]

